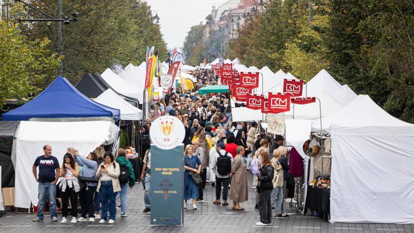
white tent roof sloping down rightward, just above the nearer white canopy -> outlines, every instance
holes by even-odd
[[[109,86],[111,86],[117,93],[122,94],[127,97],[132,97],[138,99],[139,103],[143,103],[143,89],[129,84],[125,80],[121,79],[118,75],[113,73],[113,71],[107,68],[102,74],[101,77]]]

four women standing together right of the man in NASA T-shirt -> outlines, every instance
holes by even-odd
[[[120,167],[128,169],[128,182],[121,184],[118,180]],[[80,168],[81,167],[81,168]],[[125,157],[125,150],[120,148],[117,151],[116,160],[111,152],[105,152],[103,147],[97,147],[88,156],[79,155],[72,147],[68,148],[63,159],[60,170],[58,185],[62,199],[62,224],[67,223],[69,200],[71,203],[71,223],[95,222],[101,218],[99,223],[106,223],[109,212],[109,224],[115,222],[116,193],[120,192],[121,217],[126,217],[126,193],[128,186],[135,184],[132,164]],[[78,195],[81,204],[81,217],[78,216]],[[102,204],[102,215],[99,211]]]

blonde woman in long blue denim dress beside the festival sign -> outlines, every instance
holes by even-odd
[[[191,178],[190,171],[200,175],[201,162],[198,156],[194,155],[192,145],[187,145],[184,151],[184,208],[187,208],[187,200],[193,199],[193,210],[197,210],[196,199],[199,198],[199,187]]]

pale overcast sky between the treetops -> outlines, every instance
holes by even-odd
[[[160,17],[161,33],[169,49],[182,47],[190,28],[206,22],[211,6],[218,7],[227,0],[147,0]]]

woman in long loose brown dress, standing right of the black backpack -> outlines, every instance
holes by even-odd
[[[244,147],[237,146],[236,156],[231,166],[230,199],[233,201],[232,210],[244,210],[244,208],[240,207],[240,203],[247,201],[249,198],[246,164],[244,164],[243,155]]]

